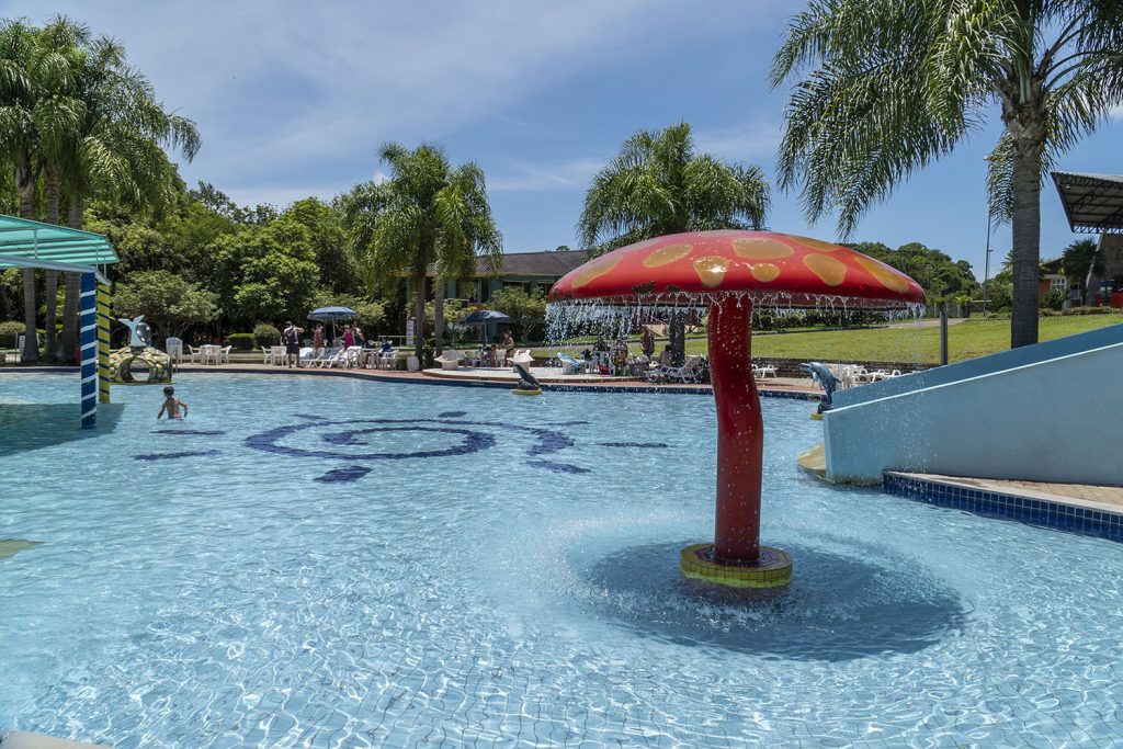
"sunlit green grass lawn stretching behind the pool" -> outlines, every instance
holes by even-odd
[[[1087,314],[1041,318],[1041,340],[1123,322],[1123,316]],[[659,342],[659,348],[663,347]],[[632,349],[638,349],[638,342]],[[948,328],[948,357],[952,362],[994,354],[1010,348],[1010,320],[971,319]],[[554,356],[558,348],[535,349],[535,356]],[[688,354],[705,354],[704,338],[686,341]],[[752,337],[752,355],[761,358],[825,359],[832,362],[912,362],[937,364],[940,360],[940,328],[864,328],[818,332],[758,334]]]

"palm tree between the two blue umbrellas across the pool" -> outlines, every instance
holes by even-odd
[[[499,258],[503,239],[492,218],[484,173],[475,163],[454,167],[445,150],[421,144],[410,150],[385,144],[380,158],[390,167],[382,184],[358,185],[344,201],[351,244],[371,286],[408,273],[417,292],[414,319],[424,321],[424,282],[436,266],[437,354],[444,335],[444,282],[469,275],[480,255]],[[414,353],[421,358],[418,330]]]

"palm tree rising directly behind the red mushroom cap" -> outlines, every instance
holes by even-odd
[[[650,237],[706,229],[759,229],[768,181],[759,166],[700,154],[686,122],[640,130],[593,177],[577,234],[590,255]],[[685,353],[685,319],[670,316],[674,359]]]

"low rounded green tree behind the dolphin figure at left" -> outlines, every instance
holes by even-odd
[[[158,336],[180,338],[190,326],[218,317],[218,295],[168,271],[144,271],[117,284],[113,311],[127,318],[143,314]]]

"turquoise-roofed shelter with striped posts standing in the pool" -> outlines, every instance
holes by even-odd
[[[0,267],[77,273],[82,426],[97,422],[98,401],[109,402],[109,280],[120,258],[104,235],[0,214]],[[34,331],[33,331],[34,334]]]

